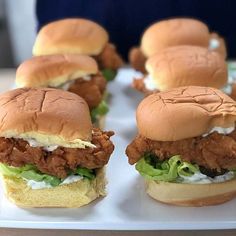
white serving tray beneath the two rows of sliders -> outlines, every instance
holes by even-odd
[[[90,230],[236,228],[236,199],[219,206],[188,208],[161,204],[146,195],[143,179],[128,164],[125,155],[127,144],[136,134],[135,108],[142,99],[141,94],[129,87],[133,75],[131,69],[122,69],[115,82],[109,84],[113,96],[106,129],[115,131],[112,140],[116,148],[107,168],[107,197],[79,209],[21,209],[8,202],[1,191],[0,227]],[[9,84],[9,88],[11,86]]]

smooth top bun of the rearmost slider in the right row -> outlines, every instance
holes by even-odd
[[[154,23],[143,34],[141,49],[146,57],[177,45],[208,47],[208,27],[201,21],[188,18],[162,20]]]

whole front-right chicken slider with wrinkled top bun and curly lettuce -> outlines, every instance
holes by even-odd
[[[216,205],[236,196],[236,102],[189,86],[147,96],[136,112],[129,163],[147,193],[172,205]]]

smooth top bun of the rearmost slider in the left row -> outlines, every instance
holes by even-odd
[[[86,19],[64,19],[45,25],[38,33],[33,55],[98,55],[108,42],[106,30]]]

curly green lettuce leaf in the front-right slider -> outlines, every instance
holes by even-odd
[[[199,172],[197,165],[182,161],[179,155],[159,161],[155,156],[146,154],[135,168],[147,179],[166,182],[174,182],[181,176],[192,176]]]

